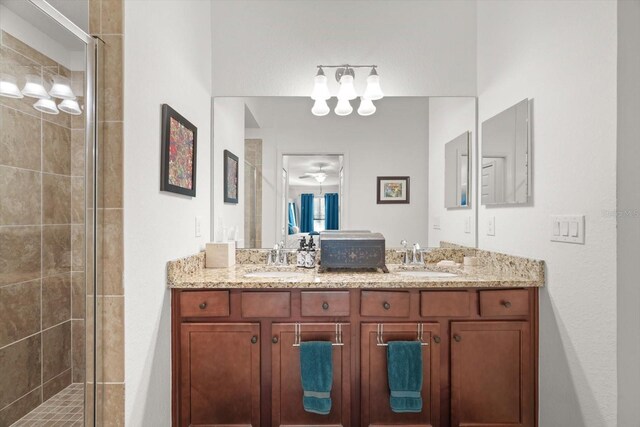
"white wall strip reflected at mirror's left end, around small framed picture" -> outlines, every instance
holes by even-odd
[[[244,247],[244,101],[241,98],[213,100],[213,236],[227,240],[222,231],[235,227],[238,247]],[[238,156],[238,203],[224,202],[224,150]]]

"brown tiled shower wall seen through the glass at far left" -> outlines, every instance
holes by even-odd
[[[84,78],[0,38],[0,72],[19,83],[27,73]],[[11,367],[0,370],[0,426],[83,379],[82,353],[72,354],[84,323],[84,289],[73,290],[84,269],[84,170],[73,160],[83,131],[75,145],[72,136],[82,120],[34,102],[0,98],[0,366]]]

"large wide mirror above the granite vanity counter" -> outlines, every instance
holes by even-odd
[[[294,249],[310,233],[370,230],[389,248],[402,240],[475,246],[474,97],[385,97],[366,117],[317,117],[312,105],[307,97],[214,98],[215,240]],[[225,150],[239,158],[237,204],[224,202]]]

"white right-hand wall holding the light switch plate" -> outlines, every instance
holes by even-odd
[[[617,425],[616,220],[607,215],[616,208],[616,7],[478,2],[480,121],[534,100],[533,201],[481,207],[478,224],[480,248],[547,264],[543,427]],[[552,214],[585,214],[586,244],[550,242]],[[490,216],[495,237],[486,236]]]

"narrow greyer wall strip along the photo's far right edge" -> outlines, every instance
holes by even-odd
[[[640,1],[618,1],[618,425],[640,420]]]

